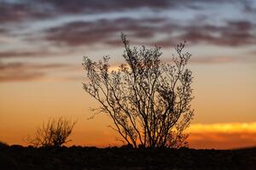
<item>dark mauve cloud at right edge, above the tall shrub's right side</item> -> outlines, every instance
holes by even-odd
[[[188,42],[206,42],[214,45],[242,46],[254,44],[256,26],[249,21],[228,21],[225,26],[188,26],[179,37]]]

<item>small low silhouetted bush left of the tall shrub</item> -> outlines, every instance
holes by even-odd
[[[27,141],[34,147],[61,146],[71,141],[68,137],[75,124],[75,121],[63,117],[49,119],[46,124],[43,123],[41,127],[38,127],[36,133],[28,137]]]

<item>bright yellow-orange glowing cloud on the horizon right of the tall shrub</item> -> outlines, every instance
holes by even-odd
[[[190,147],[234,149],[256,146],[256,122],[192,124],[188,132]]]

